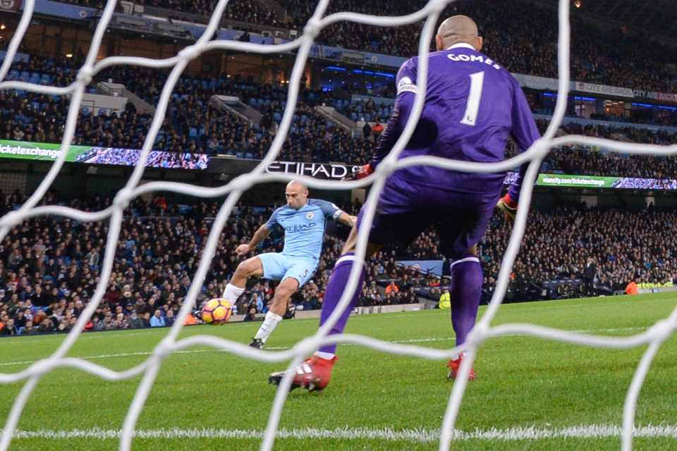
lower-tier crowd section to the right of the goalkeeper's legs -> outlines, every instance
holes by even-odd
[[[547,297],[590,294],[580,284],[581,291],[574,291],[573,283],[585,279],[587,259],[597,266],[593,294],[624,290],[633,281],[677,285],[677,264],[672,258],[677,252],[677,237],[670,233],[676,224],[674,211],[658,211],[653,206],[643,211],[590,208],[585,204],[547,212],[532,209],[506,297],[538,297],[545,282],[567,279],[571,283],[564,285],[566,292],[548,292]],[[482,240],[486,295],[496,283],[510,233],[504,221],[494,216]]]

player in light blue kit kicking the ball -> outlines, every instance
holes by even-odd
[[[286,186],[286,205],[276,209],[267,223],[254,233],[246,245],[236,249],[238,257],[251,252],[266,239],[275,228],[284,230],[284,248],[282,253],[269,252],[251,257],[240,263],[230,283],[224,290],[224,299],[232,304],[245,290],[247,279],[252,276],[272,280],[281,280],[275,290],[273,304],[263,324],[250,343],[251,347],[262,349],[277,323],[287,311],[291,296],[310,278],[319,262],[324,240],[324,226],[327,219],[335,219],[353,227],[355,216],[350,216],[338,206],[318,199],[308,199],[308,189],[299,182],[290,182]]]

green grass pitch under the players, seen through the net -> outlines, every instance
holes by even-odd
[[[501,307],[494,325],[535,323],[602,335],[633,335],[668,316],[676,306],[677,295],[671,293],[508,304]],[[248,342],[258,326],[195,326],[183,330],[181,336],[209,334]],[[316,329],[317,320],[283,321],[268,345],[289,347]],[[453,345],[449,311],[355,316],[346,331],[427,347]],[[128,369],[147,359],[146,353],[166,333],[167,329],[85,334],[69,355],[87,357],[115,370]],[[0,340],[0,371],[25,369],[29,362],[56,350],[63,338]],[[493,428],[619,427],[623,400],[644,350],[597,350],[518,335],[489,340],[480,348],[475,364],[478,378],[468,385],[457,428],[481,434]],[[339,347],[338,356],[334,378],[324,393],[295,390],[288,397],[280,425],[286,435],[276,440],[274,449],[437,449],[435,438],[452,387],[446,381],[444,362],[394,357],[357,346]],[[677,424],[676,362],[677,340],[671,338],[661,347],[640,393],[638,426]],[[283,368],[283,364],[249,361],[209,348],[173,354],[164,361],[142,411],[137,425],[142,438],[135,438],[134,449],[257,450],[275,394],[267,376]],[[114,435],[139,381],[111,383],[71,369],[49,373],[20,419],[18,429],[26,434],[15,438],[11,449],[116,450]],[[20,388],[19,383],[0,385],[3,422]],[[89,432],[75,438],[49,435],[76,430]],[[197,431],[197,436],[185,437],[190,431]],[[387,433],[391,435],[384,436]],[[595,438],[590,433],[538,440],[485,435],[452,444],[453,450],[619,447],[619,437]],[[635,447],[677,449],[677,435],[636,438]]]

